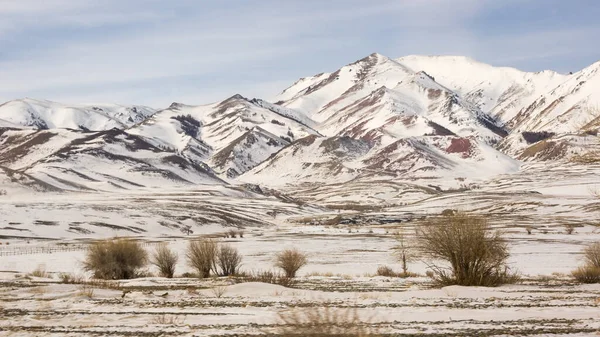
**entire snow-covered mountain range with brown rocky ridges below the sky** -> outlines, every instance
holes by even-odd
[[[19,99],[0,105],[0,188],[475,188],[530,162],[596,162],[599,69],[532,73],[375,53],[272,101],[235,94],[154,109]]]

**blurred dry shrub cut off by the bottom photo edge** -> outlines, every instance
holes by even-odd
[[[282,336],[378,336],[368,321],[360,319],[356,309],[294,308],[278,313]]]

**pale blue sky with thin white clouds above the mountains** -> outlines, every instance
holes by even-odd
[[[600,60],[597,0],[0,0],[0,100],[271,98],[372,52],[528,71]]]

